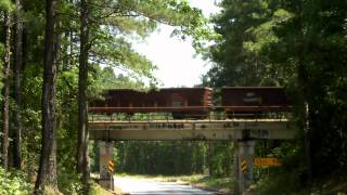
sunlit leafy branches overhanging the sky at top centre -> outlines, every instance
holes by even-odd
[[[120,1],[120,6],[127,13],[131,11],[138,15],[142,25],[151,22],[164,23],[177,28],[172,35],[194,38],[193,46],[198,49],[203,40],[208,40],[215,35],[207,26],[207,20],[202,11],[191,8],[187,0],[154,0],[154,1]],[[155,27],[151,25],[150,27]],[[154,29],[154,28],[152,28]]]

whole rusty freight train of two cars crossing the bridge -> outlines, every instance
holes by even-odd
[[[211,110],[223,110],[229,117],[287,112],[291,108],[283,88],[224,87],[221,105],[213,104],[211,88],[164,88],[140,92],[111,89],[104,100],[90,103],[93,114],[171,113],[175,119],[193,116],[206,118]]]

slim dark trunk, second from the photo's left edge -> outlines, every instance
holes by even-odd
[[[21,22],[21,0],[15,1],[17,13],[16,13],[16,26],[15,26],[15,58],[14,58],[14,146],[13,146],[13,162],[14,167],[21,169],[22,164],[22,122],[21,122],[21,82],[22,82],[22,63],[23,63],[23,25]]]

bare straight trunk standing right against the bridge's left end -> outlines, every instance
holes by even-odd
[[[79,77],[78,77],[78,142],[77,142],[77,172],[82,173],[82,182],[88,188],[89,183],[89,157],[87,128],[87,79],[88,79],[88,53],[89,26],[88,26],[88,4],[81,0],[80,4],[80,54],[79,54]]]

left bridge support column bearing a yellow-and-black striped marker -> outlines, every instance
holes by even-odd
[[[114,191],[113,171],[108,170],[108,162],[113,160],[113,142],[99,142],[100,148],[100,180],[99,184],[106,188]]]

